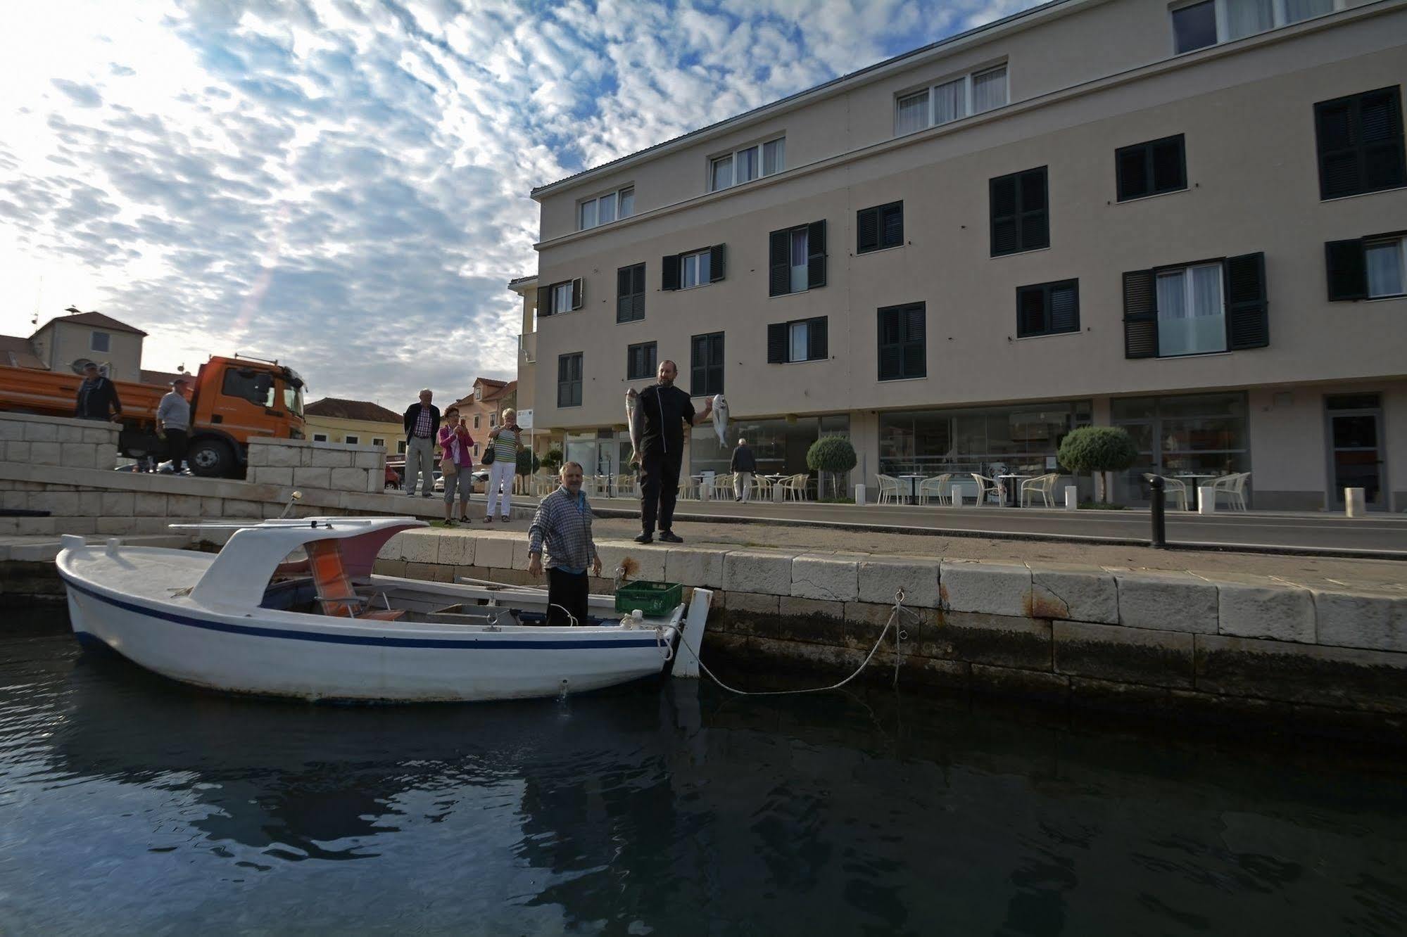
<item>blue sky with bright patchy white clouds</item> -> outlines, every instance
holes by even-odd
[[[46,0],[0,32],[0,333],[277,357],[393,408],[516,377],[533,186],[1036,0]]]

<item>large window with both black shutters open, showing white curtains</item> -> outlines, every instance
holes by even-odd
[[[1265,348],[1265,255],[1124,273],[1124,357]]]

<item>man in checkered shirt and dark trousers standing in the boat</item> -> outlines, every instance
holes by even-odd
[[[585,625],[587,567],[601,575],[601,556],[591,539],[591,505],[581,494],[581,463],[561,467],[561,487],[542,499],[528,528],[528,571],[542,575],[547,547],[547,623]]]

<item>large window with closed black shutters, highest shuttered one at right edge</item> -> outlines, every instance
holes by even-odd
[[[1403,106],[1394,87],[1314,106],[1320,198],[1342,198],[1407,186]]]

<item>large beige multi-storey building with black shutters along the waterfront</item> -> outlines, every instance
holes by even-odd
[[[1401,511],[1404,75],[1407,0],[1057,0],[543,186],[525,397],[597,471],[673,359],[763,471],[846,433],[851,481],[1036,473],[1120,425],[1131,501]]]

